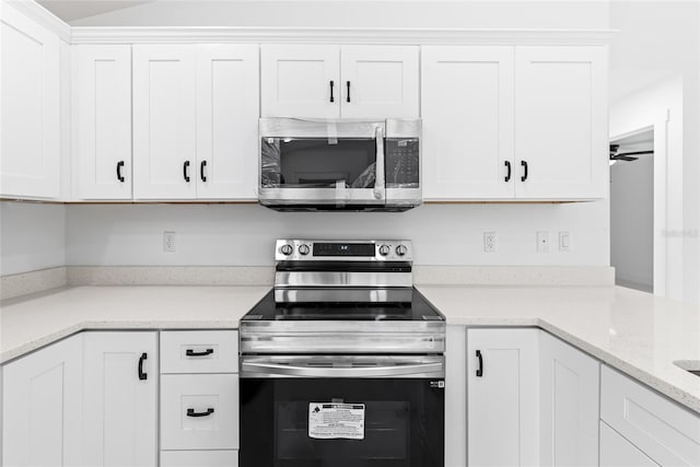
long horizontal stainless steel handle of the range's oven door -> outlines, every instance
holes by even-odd
[[[395,377],[443,372],[443,363],[416,363],[387,366],[296,366],[267,362],[243,362],[241,371],[295,377]]]

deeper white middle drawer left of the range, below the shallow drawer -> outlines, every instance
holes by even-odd
[[[161,376],[162,450],[237,450],[238,375]]]

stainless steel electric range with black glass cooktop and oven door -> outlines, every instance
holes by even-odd
[[[409,241],[277,241],[241,320],[242,467],[439,467],[444,317]]]

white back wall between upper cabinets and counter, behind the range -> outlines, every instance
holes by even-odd
[[[280,237],[410,238],[419,265],[609,264],[608,202],[564,205],[429,205],[404,213],[289,213],[259,206],[115,205],[67,208],[71,266],[272,265]],[[163,232],[176,252],[163,252]],[[483,253],[483,232],[498,252]],[[536,232],[550,232],[550,253]],[[572,246],[560,253],[559,232]]]

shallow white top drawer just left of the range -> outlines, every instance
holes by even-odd
[[[161,373],[238,373],[238,332],[162,331]]]

